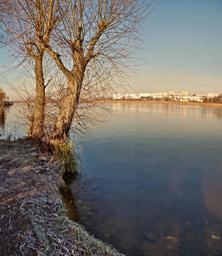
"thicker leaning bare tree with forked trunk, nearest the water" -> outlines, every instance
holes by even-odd
[[[49,42],[42,41],[67,78],[51,144],[66,140],[81,97],[98,97],[125,86],[134,66],[133,53],[141,43],[141,24],[157,6],[153,2],[63,0],[59,4],[63,19]]]

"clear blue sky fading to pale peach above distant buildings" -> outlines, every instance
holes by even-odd
[[[222,0],[162,0],[143,27],[149,50],[137,51],[137,93],[222,92]]]

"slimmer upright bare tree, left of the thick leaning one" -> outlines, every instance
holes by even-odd
[[[44,134],[45,88],[50,81],[45,84],[43,44],[48,43],[59,20],[54,2],[55,0],[0,0],[1,23],[5,27],[8,45],[13,45],[11,54],[14,60],[19,59],[19,65],[24,66],[25,62],[29,68],[34,69],[35,111],[29,135],[41,139]]]

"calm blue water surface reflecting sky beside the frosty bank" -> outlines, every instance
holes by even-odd
[[[129,256],[222,255],[222,109],[110,106],[122,117],[84,138],[85,172],[65,177],[71,218]]]

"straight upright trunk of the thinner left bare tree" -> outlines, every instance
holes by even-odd
[[[36,76],[36,99],[35,114],[33,122],[32,137],[42,139],[44,135],[45,118],[45,84],[42,68],[44,50],[40,50],[38,57],[35,58],[35,76]]]

